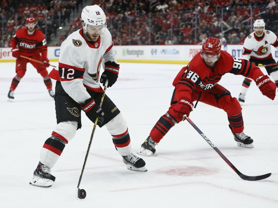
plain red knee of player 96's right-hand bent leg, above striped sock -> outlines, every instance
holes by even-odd
[[[233,98],[229,91],[225,91],[219,96],[217,105],[231,116],[239,114],[242,110],[237,99]]]

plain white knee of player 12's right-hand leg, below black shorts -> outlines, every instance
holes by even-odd
[[[119,113],[115,118],[106,124],[106,128],[111,135],[120,135],[127,131],[127,122]]]

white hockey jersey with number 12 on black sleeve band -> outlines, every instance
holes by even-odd
[[[91,96],[86,88],[103,92],[99,84],[100,67],[107,61],[117,63],[113,40],[108,29],[92,44],[83,36],[83,29],[70,34],[60,48],[59,66],[49,77],[61,81],[65,92],[77,103]]]

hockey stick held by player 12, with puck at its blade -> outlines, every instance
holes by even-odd
[[[108,85],[108,79],[106,79],[106,82],[105,82],[105,85],[104,85],[103,94],[102,94],[102,97],[101,97],[101,100],[100,100],[100,105],[99,105],[100,107],[102,106],[102,103],[103,103],[103,99],[104,99],[104,96],[105,96],[105,91],[106,91],[107,85]],[[81,183],[82,175],[83,175],[85,165],[86,165],[86,162],[87,162],[87,158],[88,158],[88,155],[89,155],[89,151],[90,151],[92,140],[93,140],[94,133],[95,133],[95,130],[96,130],[97,122],[98,122],[98,117],[96,117],[96,121],[94,123],[93,131],[92,131],[92,134],[91,134],[91,138],[90,138],[89,145],[88,145],[88,148],[87,148],[86,156],[85,156],[85,159],[84,159],[84,164],[83,164],[81,174],[80,174],[80,177],[79,177],[79,181],[78,181],[78,185],[77,185],[77,197],[80,198],[80,199],[83,199],[83,198],[86,197],[85,190],[84,189],[79,189],[79,185]]]

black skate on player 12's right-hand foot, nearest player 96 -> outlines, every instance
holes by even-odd
[[[122,156],[122,160],[127,165],[127,169],[129,170],[147,172],[145,161],[142,158],[133,155],[133,153],[127,156]]]

